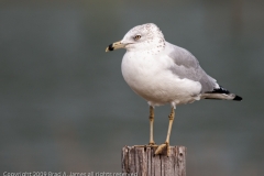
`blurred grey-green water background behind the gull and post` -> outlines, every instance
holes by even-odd
[[[0,170],[120,172],[121,147],[148,142],[148,106],[124,82],[124,50],[153,22],[241,102],[177,107],[170,144],[188,176],[264,173],[264,1],[0,1]],[[154,140],[169,107],[155,109]]]

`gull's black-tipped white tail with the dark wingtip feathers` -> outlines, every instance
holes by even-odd
[[[201,98],[205,99],[217,99],[217,100],[235,100],[241,101],[242,97],[231,94],[229,90],[219,86],[219,88],[215,88],[212,91],[207,91],[201,95]]]

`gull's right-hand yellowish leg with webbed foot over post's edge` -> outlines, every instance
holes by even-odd
[[[174,108],[172,108],[170,114],[168,116],[168,131],[167,138],[164,144],[160,145],[155,152],[155,155],[161,154],[165,147],[167,147],[167,156],[169,155],[169,136],[172,132],[173,121],[174,121],[175,112]]]

